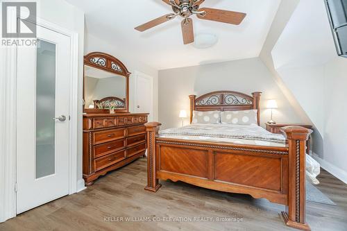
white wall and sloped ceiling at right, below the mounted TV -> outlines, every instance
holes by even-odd
[[[347,60],[337,58],[323,1],[301,0],[293,11],[270,51],[273,69],[316,128],[316,160],[347,182],[346,106],[341,103]]]

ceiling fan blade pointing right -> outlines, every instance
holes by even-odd
[[[212,8],[200,8],[199,11],[205,11],[206,15],[196,15],[199,19],[224,22],[226,24],[239,25],[242,23],[246,14],[229,10],[218,10]]]

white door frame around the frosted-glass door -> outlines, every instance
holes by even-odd
[[[26,19],[34,22],[32,19]],[[15,22],[12,22],[15,23]],[[70,37],[71,88],[69,93],[69,195],[78,191],[78,33],[37,17],[36,24]],[[0,222],[17,216],[17,46],[0,54]],[[84,185],[84,182],[83,182]],[[1,190],[2,189],[2,190]],[[79,190],[81,191],[81,190]]]

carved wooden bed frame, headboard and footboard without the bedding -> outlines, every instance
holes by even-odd
[[[189,96],[192,112],[257,109],[260,124],[261,92],[211,92]],[[160,123],[146,123],[148,169],[146,190],[158,191],[159,180],[182,181],[199,187],[249,194],[286,205],[285,223],[310,230],[305,222],[305,149],[312,132],[307,128],[282,128],[284,147],[200,142],[158,137]]]

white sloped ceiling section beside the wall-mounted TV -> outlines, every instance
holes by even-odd
[[[336,55],[324,1],[301,0],[273,48],[275,68],[322,65]]]

